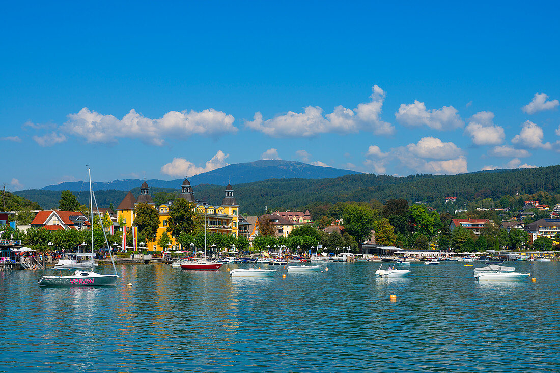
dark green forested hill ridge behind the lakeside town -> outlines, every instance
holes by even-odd
[[[240,205],[240,212],[249,215],[262,214],[264,206],[269,209],[305,209],[307,205],[316,202],[334,204],[339,201],[368,202],[372,199],[383,202],[403,198],[410,202],[432,203],[437,207],[447,196],[472,201],[482,198],[499,199],[503,195],[515,196],[516,192],[531,194],[538,191],[560,193],[560,166],[441,176],[354,174],[320,180],[271,179],[234,185],[234,196]],[[133,189],[135,195],[138,192],[138,188]],[[154,201],[160,203],[175,196],[178,189],[150,188],[150,192]],[[199,185],[194,188],[194,192],[197,199],[217,205],[223,199],[224,187]],[[44,208],[58,206],[60,199],[59,191],[27,190],[16,193],[39,202]],[[125,192],[99,191],[96,195],[100,207],[107,207],[113,202],[116,208]],[[47,196],[49,204],[42,203]],[[85,197],[80,198],[82,204],[87,202],[87,199],[82,201],[82,198]]]

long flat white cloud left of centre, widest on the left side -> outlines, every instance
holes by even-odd
[[[118,138],[140,139],[144,143],[163,145],[165,138],[188,138],[191,135],[220,136],[235,133],[234,117],[222,111],[206,109],[200,112],[170,111],[160,119],[150,119],[134,109],[116,119],[82,108],[77,114],[69,114],[62,129],[80,136],[88,143],[115,143]]]

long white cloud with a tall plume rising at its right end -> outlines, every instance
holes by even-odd
[[[380,119],[385,92],[375,85],[372,88],[371,101],[360,103],[354,110],[342,105],[334,108],[330,114],[323,115],[319,106],[307,106],[304,112],[288,111],[273,119],[263,120],[263,115],[256,112],[253,121],[245,125],[266,135],[289,138],[311,137],[323,133],[357,133],[368,131],[375,135],[390,135],[394,126]]]

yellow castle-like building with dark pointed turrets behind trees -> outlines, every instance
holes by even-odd
[[[197,201],[194,198],[193,188],[190,186],[189,181],[185,179],[185,181],[183,181],[183,185],[181,185],[181,193],[179,193],[178,198],[186,199],[189,204],[193,206],[195,211],[198,214],[202,214],[202,216],[206,210],[206,224],[210,232],[227,235],[231,234],[237,237],[240,234],[241,224],[241,232],[243,235],[246,235],[246,226],[249,224],[245,221],[245,219],[240,218],[239,216],[239,205],[237,205],[237,201],[234,197],[234,190],[230,184],[227,185],[225,193],[226,195],[222,200],[222,204],[219,206],[213,206],[206,204],[205,202]],[[128,192],[123,201],[120,202],[119,207],[116,209],[118,221],[122,219],[123,225],[127,230],[130,226],[132,226],[134,218],[136,218],[134,215],[134,206],[138,204],[148,204],[156,208],[152,201],[152,197],[150,196],[150,188],[146,182],[144,182],[140,188],[138,200],[134,198],[131,192]],[[157,228],[156,241],[146,243],[146,247],[149,250],[170,249],[171,251],[175,251],[180,249],[180,245],[174,238],[171,237],[171,233],[167,232],[167,221],[169,220],[169,210],[171,205],[172,202],[170,201],[167,204],[162,204],[157,207],[158,214],[160,216],[160,224]],[[169,235],[171,244],[167,248],[157,247],[157,241],[161,238],[161,235],[164,234],[164,232],[167,232]]]

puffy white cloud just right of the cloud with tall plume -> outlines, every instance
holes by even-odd
[[[399,111],[395,113],[396,120],[406,126],[426,125],[436,130],[454,130],[463,126],[463,121],[452,106],[440,109],[426,110],[423,102],[414,100],[414,103],[400,104]]]

